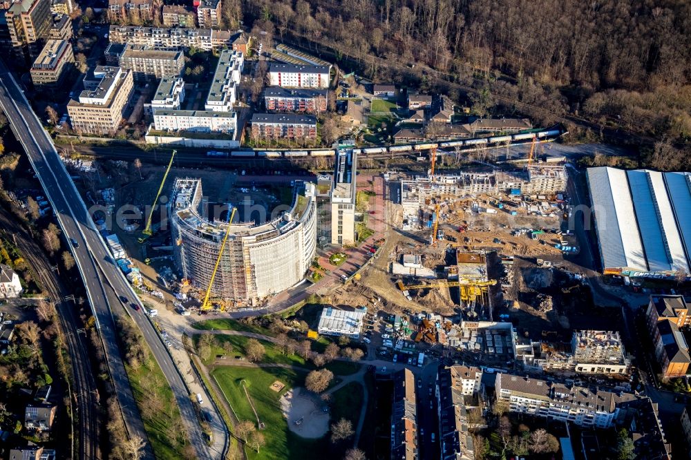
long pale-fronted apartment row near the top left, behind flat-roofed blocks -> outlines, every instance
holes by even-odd
[[[204,51],[231,48],[235,37],[229,30],[112,25],[108,34],[111,44],[144,45],[150,48],[199,48]]]

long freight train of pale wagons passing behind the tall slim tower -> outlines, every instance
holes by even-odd
[[[375,155],[378,153],[401,153],[410,151],[430,150],[431,148],[456,148],[456,147],[470,147],[482,145],[496,145],[502,142],[527,142],[533,140],[553,140],[560,135],[565,134],[559,129],[551,129],[546,131],[538,131],[537,133],[521,133],[511,135],[500,135],[493,137],[476,137],[473,139],[453,140],[445,142],[425,142],[422,144],[405,144],[392,145],[384,147],[365,147],[355,148],[354,152],[360,155]],[[261,158],[299,158],[299,157],[332,157],[336,155],[333,149],[319,149],[319,150],[237,150],[237,151],[208,151],[208,157],[231,157],[231,158],[246,158],[246,157],[261,157]]]

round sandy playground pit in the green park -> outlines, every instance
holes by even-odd
[[[319,396],[296,387],[281,398],[283,416],[290,431],[303,438],[321,438],[329,431],[328,406]]]

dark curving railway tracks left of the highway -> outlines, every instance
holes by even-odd
[[[78,451],[73,452],[73,458],[79,459],[100,459],[98,445],[98,407],[100,401],[97,396],[96,381],[93,368],[88,356],[87,347],[91,345],[85,334],[79,334],[79,321],[77,312],[72,303],[65,300],[66,296],[73,294],[64,286],[61,278],[50,269],[50,263],[46,259],[44,251],[37,242],[26,233],[17,223],[14,216],[7,211],[0,211],[0,227],[8,238],[14,237],[15,244],[19,247],[22,256],[26,258],[29,265],[37,274],[37,278],[44,287],[51,300],[55,302],[55,309],[60,320],[61,329],[65,334],[70,361],[73,372],[73,387],[70,388],[75,404],[75,416],[79,421],[78,432]],[[66,448],[66,446],[65,446]]]

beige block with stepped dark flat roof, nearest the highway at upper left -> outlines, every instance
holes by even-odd
[[[67,104],[72,128],[79,134],[113,135],[133,89],[131,70],[97,66],[84,78],[84,90]]]

